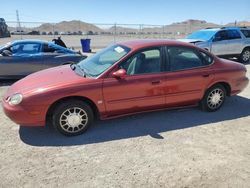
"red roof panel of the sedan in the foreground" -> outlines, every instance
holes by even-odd
[[[141,39],[141,40],[131,40],[125,42],[119,42],[119,45],[129,47],[133,50],[141,48],[150,48],[156,46],[186,46],[186,47],[195,47],[193,44],[186,42],[180,42],[177,40],[170,39]]]

